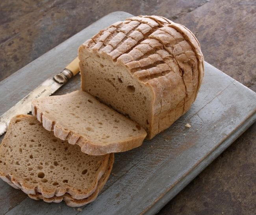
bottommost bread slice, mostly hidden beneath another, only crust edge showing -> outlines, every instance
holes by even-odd
[[[85,204],[89,204],[90,202],[93,202],[97,198],[98,193],[100,193],[100,191],[106,184],[106,182],[109,178],[109,175],[111,173],[113,163],[114,163],[114,153],[111,153],[109,156],[108,168],[107,168],[106,172],[103,174],[103,176],[98,181],[98,185],[97,185],[95,192],[87,198],[80,199],[80,200],[74,199],[68,193],[65,193],[63,196],[53,196],[52,198],[45,198],[41,195],[41,193],[37,193],[35,195],[28,194],[28,196],[35,200],[43,199],[45,202],[48,202],[48,203],[51,203],[51,202],[59,203],[62,200],[64,200],[66,202],[67,206],[70,206],[70,207],[81,207]]]

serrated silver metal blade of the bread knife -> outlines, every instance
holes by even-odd
[[[11,107],[0,117],[0,136],[6,132],[11,118],[19,114],[28,114],[31,111],[32,100],[39,97],[46,97],[52,95],[55,91],[64,85],[64,83],[58,83],[54,78],[46,79],[41,85],[31,91],[22,100],[20,100],[15,106]]]

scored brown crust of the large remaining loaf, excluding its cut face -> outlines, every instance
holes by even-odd
[[[113,31],[106,33],[110,29]],[[204,76],[204,57],[195,35],[164,17],[138,16],[118,22],[85,41],[79,47],[80,60],[82,50],[98,53],[114,65],[126,67],[135,80],[151,90],[148,139],[186,113],[197,97]],[[148,56],[148,53],[152,54]],[[85,74],[82,64],[80,70]],[[86,76],[81,77],[83,89]],[[174,109],[176,114],[167,117]]]

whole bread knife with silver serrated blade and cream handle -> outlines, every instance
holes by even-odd
[[[18,114],[28,114],[31,111],[31,102],[36,98],[52,95],[61,86],[68,82],[70,78],[79,72],[79,59],[76,57],[67,67],[53,78],[46,79],[41,85],[31,91],[15,106],[11,107],[0,117],[0,136],[6,132],[11,118]]]

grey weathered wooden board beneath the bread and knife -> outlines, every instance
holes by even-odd
[[[100,29],[132,15],[114,12],[59,44],[0,82],[0,115],[76,55],[77,48]],[[79,89],[77,75],[57,91]],[[60,204],[28,198],[0,181],[0,214],[156,213],[223,152],[256,119],[256,94],[205,63],[205,77],[191,109],[151,141],[116,153],[111,175],[95,202],[79,212]],[[191,128],[185,128],[185,124]],[[2,140],[3,137],[0,138]]]

